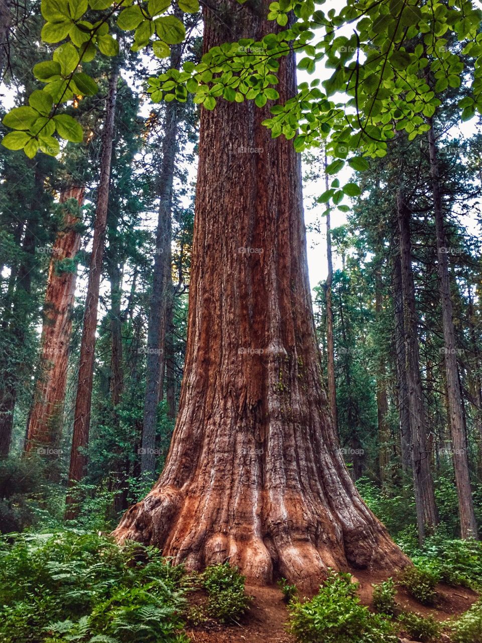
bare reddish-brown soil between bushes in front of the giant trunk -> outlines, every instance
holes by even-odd
[[[357,570],[356,579],[360,583],[361,602],[370,606],[373,593],[372,583],[385,580],[383,575]],[[199,627],[188,627],[187,635],[193,643],[294,643],[295,638],[286,631],[288,619],[287,606],[283,595],[276,586],[256,587],[247,585],[246,593],[253,597],[253,604],[242,622],[234,626],[204,624]],[[439,595],[436,607],[426,607],[411,598],[402,588],[398,589],[397,602],[403,610],[416,611],[420,615],[432,615],[443,621],[467,611],[478,599],[478,594],[465,587],[451,587],[439,583],[436,587]],[[400,640],[408,641],[400,635]],[[448,642],[449,637],[440,639]]]

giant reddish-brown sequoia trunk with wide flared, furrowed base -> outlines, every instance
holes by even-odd
[[[228,6],[229,28],[205,10],[205,50],[272,30],[253,13],[265,7]],[[281,100],[295,82],[290,55]],[[202,111],[177,424],[161,477],[114,535],[155,543],[188,568],[229,559],[250,582],[280,574],[316,588],[328,566],[393,570],[407,559],[341,457],[314,329],[300,159],[292,141],[271,138],[267,115],[222,100]]]

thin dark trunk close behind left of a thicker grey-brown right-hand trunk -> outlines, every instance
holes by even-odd
[[[404,297],[402,291],[402,267],[400,252],[393,262],[393,305],[395,310],[395,352],[397,364],[398,415],[400,417],[400,459],[402,471],[412,468],[412,438],[408,407],[407,359],[404,320]]]

